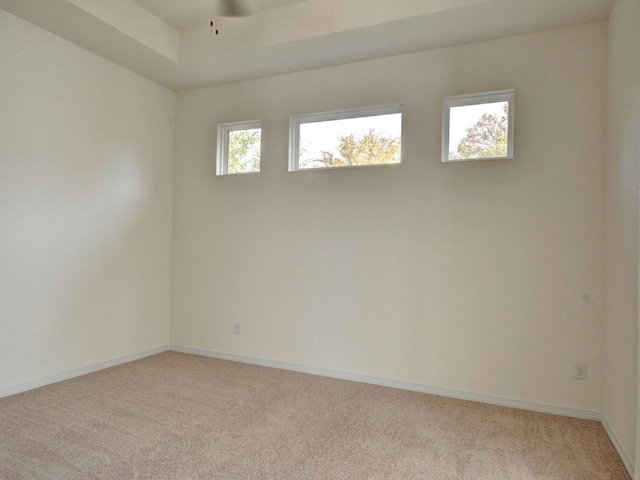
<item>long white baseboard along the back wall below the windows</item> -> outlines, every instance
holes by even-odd
[[[392,380],[388,378],[372,377],[369,375],[361,375],[357,373],[342,372],[336,370],[328,370],[324,368],[311,367],[306,365],[297,365],[274,360],[265,360],[262,358],[246,357],[243,355],[234,355],[230,353],[216,352],[212,350],[204,350],[200,348],[185,347],[182,345],[171,345],[171,350],[181,353],[189,353],[204,357],[217,358],[220,360],[230,360],[239,363],[248,363],[251,365],[259,365],[263,367],[279,368],[282,370],[292,370],[294,372],[308,373],[322,377],[337,378],[340,380],[350,380],[353,382],[368,383],[379,385],[382,387],[398,388],[401,390],[410,390],[413,392],[428,393],[441,397],[456,398],[460,400],[468,400],[472,402],[487,403],[490,405],[499,405],[503,407],[518,408],[520,410],[529,410],[540,413],[550,413],[554,415],[562,415],[565,417],[581,418],[585,420],[600,421],[600,413],[590,410],[580,410],[576,408],[562,407],[557,405],[548,405],[542,403],[529,402],[525,400],[517,400],[513,398],[499,397],[495,395],[487,395],[482,393],[464,392],[449,388],[434,387],[419,383],[404,382],[400,380]]]

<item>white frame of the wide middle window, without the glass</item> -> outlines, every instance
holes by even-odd
[[[291,115],[289,117],[289,171],[308,172],[339,170],[344,168],[365,168],[399,165],[402,163],[402,126],[400,130],[400,162],[399,163],[379,163],[374,165],[349,165],[344,167],[331,168],[300,168],[300,125],[304,123],[327,122],[332,120],[347,120],[350,118],[377,117],[380,115],[391,115],[395,113],[404,114],[402,103],[390,103],[385,105],[375,105],[370,107],[347,108],[344,110],[332,110],[329,112],[303,113]],[[403,115],[404,117],[404,115]],[[404,120],[403,120],[404,123]]]

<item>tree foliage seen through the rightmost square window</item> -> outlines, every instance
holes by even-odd
[[[458,149],[450,152],[449,158],[506,157],[508,139],[508,106],[505,105],[500,117],[484,113],[473,126],[467,128],[467,134],[460,139]]]

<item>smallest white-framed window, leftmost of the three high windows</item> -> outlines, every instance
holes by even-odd
[[[218,125],[216,174],[259,172],[261,133],[260,120]]]

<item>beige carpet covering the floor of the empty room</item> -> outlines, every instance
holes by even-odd
[[[169,352],[0,399],[0,478],[629,477],[597,422]]]

